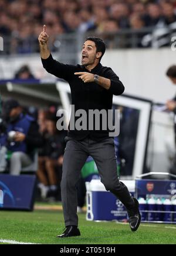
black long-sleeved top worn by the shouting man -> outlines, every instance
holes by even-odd
[[[124,92],[124,86],[119,80],[119,77],[112,71],[111,68],[103,67],[100,63],[92,69],[92,74],[97,74],[100,77],[109,78],[111,85],[109,89],[105,89],[96,82],[84,83],[79,75],[75,75],[75,72],[90,72],[83,65],[66,65],[62,64],[55,59],[52,55],[48,59],[42,59],[43,68],[50,74],[55,75],[58,78],[65,79],[71,89],[72,105],[75,105],[75,111],[78,109],[84,109],[87,113],[87,127],[89,121],[89,109],[108,109],[112,108],[113,94],[120,95]],[[79,117],[80,118],[80,117]],[[75,122],[76,119],[75,118]],[[84,139],[88,135],[90,138],[100,140],[105,137],[109,137],[109,129],[103,130],[100,125],[100,130],[93,129],[87,130],[69,130],[69,137],[75,139]]]

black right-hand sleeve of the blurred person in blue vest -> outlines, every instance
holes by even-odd
[[[28,134],[26,135],[26,138],[25,138],[25,142],[30,147],[31,146],[34,148],[42,147],[43,139],[42,139],[42,135],[40,135],[39,133],[39,126],[37,122],[31,122],[31,126],[29,127]]]

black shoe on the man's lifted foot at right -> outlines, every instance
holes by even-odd
[[[131,208],[130,210],[127,209],[127,212],[128,212],[131,231],[137,231],[141,222],[141,214],[138,208],[137,199],[133,197],[133,200],[134,200],[134,207]]]

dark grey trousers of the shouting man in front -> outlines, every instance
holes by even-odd
[[[119,181],[117,176],[117,162],[114,149],[114,139],[104,138],[97,142],[89,137],[82,141],[66,137],[67,143],[63,157],[63,171],[61,181],[61,196],[65,226],[78,225],[77,218],[77,189],[76,184],[80,177],[87,157],[91,155],[99,170],[101,182],[107,191],[112,192],[126,206],[133,208],[134,201],[126,185]]]

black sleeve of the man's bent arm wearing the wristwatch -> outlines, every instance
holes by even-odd
[[[109,91],[114,95],[121,95],[124,92],[124,85],[119,80],[119,77],[113,72],[111,68],[106,70],[104,77],[109,78],[111,81]]]

